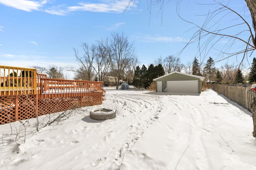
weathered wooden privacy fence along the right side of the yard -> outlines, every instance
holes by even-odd
[[[212,84],[212,89],[216,92],[224,95],[229,100],[239,104],[248,111],[251,111],[253,93],[248,92],[250,87],[237,86],[236,84],[224,85],[224,84]]]

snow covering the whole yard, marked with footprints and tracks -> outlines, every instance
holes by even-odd
[[[89,117],[95,108],[118,113],[95,121]],[[0,125],[0,138],[8,141],[0,145],[0,168],[255,170],[252,117],[242,110],[213,90],[200,95],[108,90],[101,106],[77,109],[33,135],[35,119],[28,120],[25,143],[20,135],[13,145],[10,135],[10,127],[13,134],[22,131],[20,122]]]

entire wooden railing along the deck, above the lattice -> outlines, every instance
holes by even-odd
[[[102,94],[103,82],[47,78],[36,68],[0,65],[0,96],[38,94],[45,97],[93,96]]]

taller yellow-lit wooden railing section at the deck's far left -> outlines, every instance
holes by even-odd
[[[36,94],[36,69],[0,65],[1,95]]]

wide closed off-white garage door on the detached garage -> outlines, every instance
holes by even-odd
[[[167,92],[198,93],[198,80],[166,81]]]

